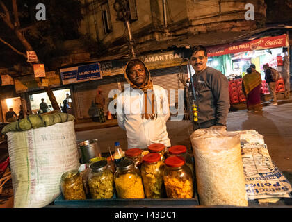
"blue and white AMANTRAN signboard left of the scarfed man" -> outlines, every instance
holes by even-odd
[[[78,67],[70,67],[60,69],[60,76],[63,85],[71,83],[81,83],[89,80],[97,80],[102,78],[100,64],[94,63],[89,65],[81,65]]]

